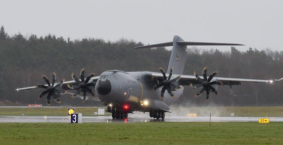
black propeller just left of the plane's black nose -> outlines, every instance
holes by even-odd
[[[86,98],[86,93],[90,93],[93,97],[95,97],[95,93],[89,88],[90,86],[95,86],[94,83],[88,83],[88,81],[92,78],[95,77],[95,73],[89,74],[86,79],[84,79],[84,71],[85,69],[82,68],[80,71],[80,80],[76,77],[75,73],[72,73],[72,79],[75,81],[73,86],[71,87],[69,84],[67,87],[72,90],[77,90],[77,93],[72,95],[71,97],[74,98],[77,95],[79,95],[81,92],[83,93],[83,99],[82,102],[85,101]]]

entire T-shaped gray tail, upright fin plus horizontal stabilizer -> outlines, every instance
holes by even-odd
[[[138,46],[135,48],[155,48],[155,47],[167,47],[173,46],[169,65],[167,68],[167,74],[170,72],[170,67],[174,69],[173,74],[182,75],[186,61],[186,46],[187,45],[243,45],[235,43],[210,43],[210,42],[186,42],[181,37],[175,35],[172,42],[159,43],[153,45]]]

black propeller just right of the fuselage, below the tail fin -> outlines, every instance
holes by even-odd
[[[172,77],[172,73],[173,73],[173,68],[172,67],[170,67],[170,73],[169,73],[168,78],[166,77],[163,68],[159,67],[158,69],[161,71],[161,73],[163,75],[163,81],[162,81],[162,83],[155,85],[155,87],[153,88],[153,91],[155,91],[157,88],[163,86],[163,88],[161,90],[161,98],[162,98],[162,100],[164,99],[165,90],[167,90],[167,92],[170,94],[170,96],[172,98],[175,98],[175,95],[172,93],[172,91],[175,91],[176,88],[178,88],[176,86],[176,82],[180,79],[181,75],[179,75],[178,77],[170,80],[171,77]]]

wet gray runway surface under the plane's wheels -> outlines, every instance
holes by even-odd
[[[270,122],[283,122],[283,117],[268,117]],[[211,122],[258,122],[259,117],[211,117]],[[104,123],[135,123],[135,122],[209,122],[208,117],[177,117],[169,116],[165,119],[129,115],[128,119],[112,119],[111,116],[82,116],[82,122]],[[0,116],[0,122],[65,122],[68,116]]]

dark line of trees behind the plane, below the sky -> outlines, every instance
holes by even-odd
[[[15,91],[16,88],[44,84],[42,74],[52,77],[56,72],[61,78],[71,80],[71,73],[78,74],[81,68],[86,74],[100,75],[105,70],[156,71],[158,67],[167,69],[171,51],[165,48],[133,49],[143,45],[121,38],[115,42],[102,39],[85,38],[70,40],[48,34],[25,38],[21,33],[9,36],[2,26],[0,29],[0,105],[44,104],[37,100],[42,91],[34,89]],[[209,72],[219,71],[219,77],[247,79],[278,79],[283,77],[283,51],[249,48],[239,51],[231,47],[230,51],[218,49],[199,49],[188,47],[184,75],[201,74],[203,67]],[[183,95],[175,104],[182,105],[237,105],[270,106],[281,105],[282,83],[274,84],[242,83],[240,86],[219,86],[219,97],[210,95],[205,102],[205,95],[195,98],[199,89],[185,87]],[[100,102],[71,99],[63,95],[63,105],[101,105]],[[53,106],[57,104],[53,102]]]

